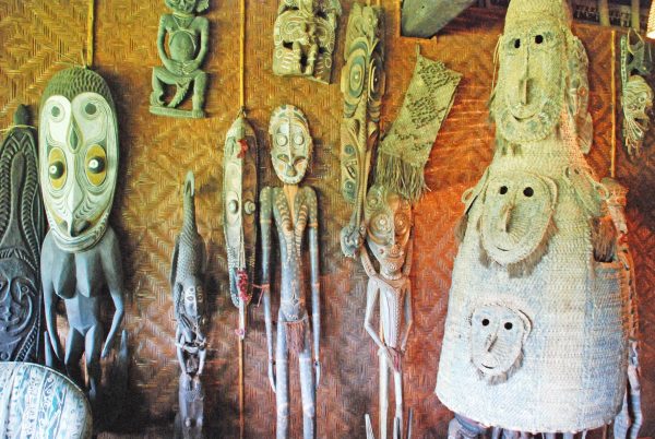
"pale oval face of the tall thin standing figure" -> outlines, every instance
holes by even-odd
[[[298,185],[305,177],[313,146],[307,118],[299,108],[284,105],[273,111],[269,133],[277,178],[285,185]]]

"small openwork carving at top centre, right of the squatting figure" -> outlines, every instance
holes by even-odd
[[[338,0],[281,0],[273,40],[273,72],[330,83]]]

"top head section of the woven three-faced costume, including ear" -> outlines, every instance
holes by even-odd
[[[512,0],[498,50],[491,115],[500,138],[511,143],[544,140],[567,115],[572,137],[588,152],[593,137],[588,59],[571,33],[567,3]]]

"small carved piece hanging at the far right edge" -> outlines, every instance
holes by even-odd
[[[651,45],[635,33],[638,41],[632,45],[632,29],[621,37],[621,84],[623,87],[623,140],[630,155],[640,155],[644,138],[651,124],[653,88],[641,75],[653,69]]]

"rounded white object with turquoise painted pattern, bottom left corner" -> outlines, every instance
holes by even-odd
[[[91,438],[84,392],[63,375],[28,363],[0,363],[0,438]]]

